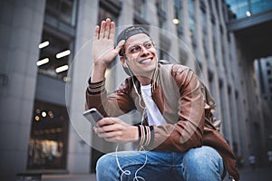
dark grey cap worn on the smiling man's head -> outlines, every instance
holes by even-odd
[[[119,33],[116,44],[118,44],[121,40],[127,41],[132,35],[138,33],[145,33],[146,35],[150,36],[150,34],[141,26],[132,25],[130,27],[125,28],[123,31],[121,31],[121,33]],[[121,50],[119,54],[123,55],[123,50]]]

